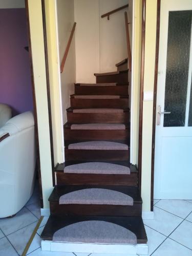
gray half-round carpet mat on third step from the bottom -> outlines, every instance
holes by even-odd
[[[75,174],[130,174],[130,168],[112,163],[90,162],[68,165],[64,173]]]

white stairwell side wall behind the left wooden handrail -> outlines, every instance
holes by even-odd
[[[74,1],[56,0],[58,20],[58,40],[60,63],[65,53],[70,33],[74,24]],[[69,54],[61,74],[62,116],[63,123],[67,122],[66,109],[70,106],[70,95],[74,93],[75,75],[75,34],[71,43]]]

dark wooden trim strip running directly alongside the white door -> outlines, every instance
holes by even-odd
[[[155,161],[157,79],[158,79],[158,62],[159,62],[160,12],[161,12],[161,0],[157,0],[156,53],[155,53],[155,76],[154,76],[154,96],[153,96],[153,99],[154,99],[153,100],[153,131],[152,131],[151,211],[153,211],[153,201],[154,201],[154,161]]]

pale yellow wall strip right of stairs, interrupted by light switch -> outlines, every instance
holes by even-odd
[[[157,0],[146,0],[144,92],[154,90]],[[153,100],[143,101],[142,188],[143,210],[151,208]]]

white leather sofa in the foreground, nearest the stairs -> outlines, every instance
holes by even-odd
[[[30,199],[35,163],[34,118],[25,112],[0,128],[0,218],[15,215]]]

